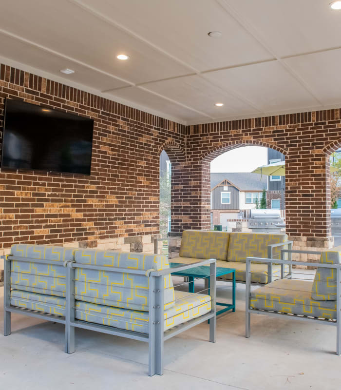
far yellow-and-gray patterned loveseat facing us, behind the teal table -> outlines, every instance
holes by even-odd
[[[281,249],[291,250],[286,234],[228,233],[186,230],[182,234],[179,257],[174,263],[191,264],[198,259],[215,258],[217,267],[234,268],[236,281],[246,281],[246,257],[281,258]],[[251,264],[251,282],[267,284],[290,273],[289,266],[277,263]],[[231,280],[227,274],[218,280]]]

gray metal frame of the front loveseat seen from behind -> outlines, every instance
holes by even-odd
[[[49,260],[30,259],[25,257],[8,256],[4,259],[4,335],[11,334],[11,312],[18,312],[24,315],[30,315],[38,318],[43,318],[48,321],[59,322],[65,324],[65,352],[75,352],[75,328],[88,329],[116,336],[127,337],[134,340],[145,341],[149,344],[149,375],[163,374],[163,346],[164,341],[176,336],[177,334],[187,331],[195,325],[198,325],[207,320],[209,321],[209,341],[215,342],[216,329],[216,260],[207,259],[201,260],[193,264],[171,268],[161,271],[150,271],[149,277],[149,322],[148,334],[135,331],[127,331],[124,329],[114,328],[106,325],[99,325],[91,322],[80,321],[75,318],[75,271],[76,268],[100,270],[115,273],[132,273],[146,275],[146,271],[123,269],[123,268],[108,268],[93,265],[78,264],[76,262],[65,262],[66,267],[66,303],[65,303],[65,318],[58,317],[46,313],[39,313],[28,309],[19,309],[10,304],[10,273],[11,260],[20,260],[27,262],[36,262],[43,264],[56,264]],[[164,276],[173,272],[180,272],[189,268],[198,267],[201,265],[209,265],[210,268],[210,289],[212,309],[209,313],[198,318],[194,318],[188,322],[180,324],[168,331],[164,331],[164,304],[163,304],[163,280]]]

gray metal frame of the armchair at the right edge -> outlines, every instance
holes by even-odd
[[[291,251],[294,252],[294,251]],[[306,253],[305,251],[302,251],[302,253]],[[336,270],[336,282],[337,282],[337,290],[336,290],[336,321],[335,320],[329,320],[329,319],[322,319],[322,318],[313,318],[313,317],[307,317],[303,315],[297,315],[297,314],[287,314],[287,313],[279,313],[279,312],[267,312],[264,310],[259,309],[251,309],[250,308],[250,291],[251,291],[251,283],[250,283],[250,265],[252,262],[256,263],[276,263],[281,264],[284,266],[284,264],[289,265],[304,265],[304,266],[313,266],[313,267],[321,267],[321,268],[334,268]],[[340,317],[340,310],[341,310],[341,265],[340,264],[323,264],[323,263],[307,263],[303,261],[292,261],[292,260],[277,260],[277,259],[264,259],[260,257],[247,257],[246,258],[246,307],[245,307],[245,314],[246,314],[246,321],[245,321],[245,337],[250,337],[250,331],[251,331],[251,313],[255,314],[263,314],[263,315],[269,315],[269,316],[285,316],[287,318],[293,318],[301,321],[314,321],[319,322],[325,325],[332,325],[336,326],[337,329],[337,337],[336,337],[336,354],[341,354],[341,317]]]

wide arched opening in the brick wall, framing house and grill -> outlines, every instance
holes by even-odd
[[[210,186],[208,188],[206,183],[203,188],[203,199],[209,200],[209,220],[206,215],[208,228],[239,232],[283,232],[285,177],[251,172],[261,165],[285,161],[285,154],[285,150],[276,146],[246,141],[220,145],[204,156],[202,163],[210,171]],[[253,209],[260,209],[259,215],[266,217],[272,214],[273,217],[253,223],[252,226],[250,216]],[[266,209],[266,213],[262,213],[262,209]],[[279,219],[278,224],[281,226],[276,226],[273,219]]]

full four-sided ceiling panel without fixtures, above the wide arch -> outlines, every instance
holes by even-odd
[[[318,104],[278,61],[220,70],[206,77],[247,97],[264,113]]]

